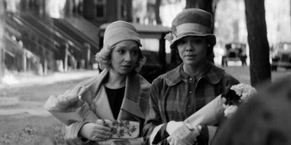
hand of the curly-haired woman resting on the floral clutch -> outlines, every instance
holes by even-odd
[[[88,140],[100,142],[110,139],[112,132],[108,127],[94,123],[86,123],[82,126],[79,135]]]

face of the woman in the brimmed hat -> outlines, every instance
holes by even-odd
[[[199,36],[185,36],[177,41],[180,58],[184,64],[197,65],[207,56],[207,40]]]

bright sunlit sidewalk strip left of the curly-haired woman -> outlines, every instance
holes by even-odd
[[[16,80],[18,81],[17,84],[13,84],[13,85],[0,84],[0,89],[21,87],[21,86],[32,86],[32,85],[38,85],[38,84],[42,84],[42,85],[53,84],[55,82],[76,80],[76,79],[81,79],[85,77],[92,77],[92,76],[96,76],[98,73],[99,73],[98,70],[77,70],[77,71],[71,71],[67,73],[55,72],[47,76],[38,76],[38,75],[15,76]]]

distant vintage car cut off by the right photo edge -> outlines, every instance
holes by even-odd
[[[291,43],[278,43],[272,57],[272,70],[276,71],[277,67],[291,68]]]

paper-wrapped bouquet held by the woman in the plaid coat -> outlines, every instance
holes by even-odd
[[[231,116],[235,113],[237,106],[246,102],[255,92],[257,91],[254,87],[242,83],[229,86],[226,88],[226,94],[217,96],[184,122],[193,126],[198,124],[214,125],[224,116]]]

